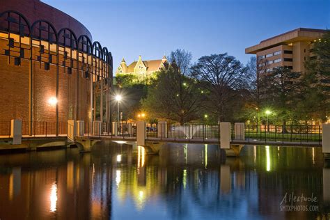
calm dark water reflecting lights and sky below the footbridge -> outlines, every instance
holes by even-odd
[[[329,167],[320,148],[272,146],[245,146],[239,158],[211,145],[158,156],[110,142],[0,155],[0,219],[327,219]],[[316,211],[281,210],[292,193],[313,198],[296,209]]]

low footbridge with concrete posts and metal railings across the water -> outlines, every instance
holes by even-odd
[[[84,123],[68,120],[54,134],[45,123],[33,135],[24,134],[21,120],[11,120],[3,135],[0,123],[0,150],[28,149],[59,146],[78,146],[81,152],[89,152],[99,141],[144,146],[148,153],[158,153],[165,143],[217,144],[228,156],[239,155],[245,145],[322,147],[324,155],[330,153],[330,125],[245,125],[244,123],[220,123],[219,125],[168,125],[166,122],[137,123]],[[9,129],[8,129],[9,127]]]

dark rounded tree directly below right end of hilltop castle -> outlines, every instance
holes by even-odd
[[[148,115],[179,122],[181,125],[200,118],[201,95],[198,85],[184,77],[175,63],[162,69],[148,89],[146,99],[141,101]]]

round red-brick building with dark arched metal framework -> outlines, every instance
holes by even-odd
[[[70,15],[38,0],[1,1],[0,121],[22,119],[30,134],[33,122],[56,133],[69,119],[109,122],[112,67],[107,47]]]

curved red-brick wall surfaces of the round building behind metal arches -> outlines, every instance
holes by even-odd
[[[0,13],[6,10],[15,10],[21,13],[26,17],[30,25],[38,19],[45,19],[54,25],[57,32],[62,28],[70,28],[74,31],[77,38],[81,35],[86,35],[92,39],[91,33],[83,24],[38,0],[0,0]],[[15,46],[18,46],[17,40],[15,40]],[[29,122],[30,52],[26,50],[20,65],[15,65],[14,58],[9,58],[4,53],[5,49],[8,49],[8,41],[1,38],[0,122],[20,118],[25,122],[23,124],[23,134],[27,134],[29,128],[26,122]],[[38,50],[37,47],[33,47],[33,54],[36,54]],[[63,55],[61,56],[63,57]],[[78,63],[81,66],[81,61]],[[31,81],[32,120],[53,123],[47,125],[47,129],[52,129],[50,133],[54,134],[55,107],[51,106],[48,100],[50,97],[54,97],[56,92],[56,65],[51,62],[49,70],[45,70],[45,63],[40,63],[33,59],[31,70],[33,72]],[[91,77],[84,77],[85,70],[72,68],[72,74],[68,74],[67,71],[65,71],[63,66],[58,67],[58,121],[66,122],[68,119],[74,119],[74,112],[78,107],[77,120],[88,122],[91,118]],[[110,71],[112,72],[112,68]],[[39,128],[38,126],[36,128],[33,127],[33,129],[36,129],[35,134],[38,134]]]

